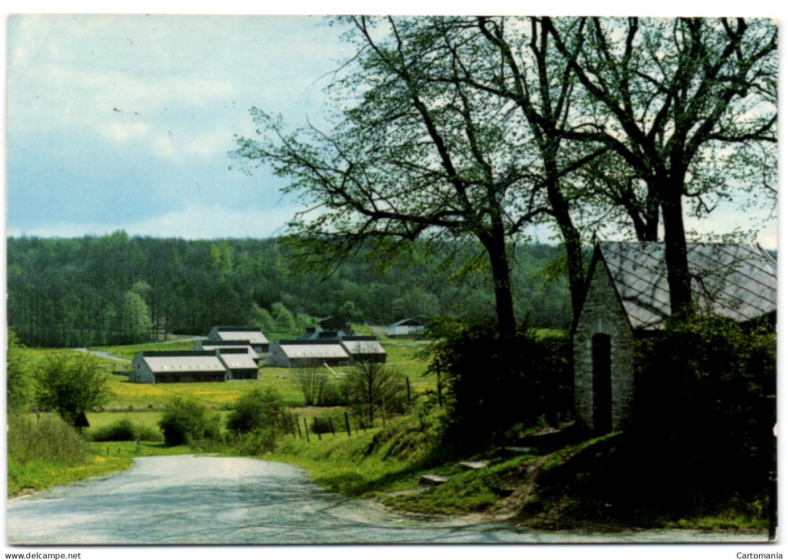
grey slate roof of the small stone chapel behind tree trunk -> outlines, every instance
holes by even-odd
[[[632,328],[662,328],[671,314],[664,244],[604,242],[597,247]],[[777,263],[759,246],[687,243],[687,260],[701,308],[737,322],[776,312]]]

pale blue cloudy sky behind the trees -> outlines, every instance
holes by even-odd
[[[227,154],[253,132],[251,106],[289,124],[325,117],[322,87],[352,54],[339,35],[319,16],[10,17],[8,235],[281,233],[299,209],[282,180],[231,170]],[[752,217],[723,209],[689,226]],[[761,230],[776,247],[776,217]]]

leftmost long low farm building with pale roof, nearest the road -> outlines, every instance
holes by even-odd
[[[211,350],[137,352],[128,380],[133,383],[203,383],[225,381],[227,367]]]

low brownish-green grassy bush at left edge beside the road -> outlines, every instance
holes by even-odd
[[[8,417],[10,460],[74,465],[84,461],[89,454],[80,433],[59,417],[46,415],[34,418],[18,414]]]

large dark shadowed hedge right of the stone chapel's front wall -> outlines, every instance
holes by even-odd
[[[736,492],[764,493],[776,465],[776,351],[768,323],[742,326],[703,313],[671,319],[663,336],[641,344],[636,426],[678,458],[652,462],[671,488],[692,489],[693,513]]]

